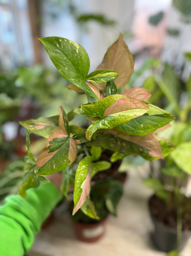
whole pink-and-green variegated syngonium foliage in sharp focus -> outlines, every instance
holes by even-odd
[[[49,182],[43,175],[62,171],[62,191],[66,197],[74,183],[73,214],[81,208],[97,219],[89,197],[92,177],[130,154],[148,160],[169,154],[172,144],[157,138],[156,131],[175,117],[149,103],[151,93],[146,89],[123,89],[134,72],[134,60],[121,34],[90,74],[90,60],[81,45],[61,37],[44,37],[40,41],[58,71],[71,83],[67,87],[86,93],[88,102],[68,114],[60,107],[59,116],[20,122],[28,130],[28,157],[18,193],[26,196],[26,189],[38,187],[40,180]],[[121,90],[123,93],[119,93]],[[70,125],[74,114],[86,116],[89,126]],[[29,149],[30,133],[47,138],[37,161]],[[104,150],[113,152],[109,162],[100,159]]]

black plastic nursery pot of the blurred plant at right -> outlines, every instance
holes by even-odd
[[[149,198],[149,202],[151,201],[151,198]],[[164,251],[164,252],[176,250],[177,249],[177,231],[160,223],[156,219],[156,217],[152,215],[150,211],[150,207],[149,207],[149,212],[150,212],[150,216],[154,226],[154,230],[151,233],[151,238],[155,246],[160,251]],[[190,235],[191,235],[191,230],[182,231],[180,251],[185,246]]]

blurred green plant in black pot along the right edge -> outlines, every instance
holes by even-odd
[[[186,56],[190,58],[190,54],[187,53]],[[153,74],[149,80],[152,84],[154,82],[153,90],[160,90],[163,105],[165,104],[167,109],[171,108],[177,116],[172,126],[161,134],[165,134],[176,149],[161,162],[159,177],[149,178],[144,184],[155,192],[155,196],[149,200],[151,216],[156,223],[155,232],[152,234],[153,240],[160,250],[169,252],[176,249],[178,253],[191,230],[191,195],[187,189],[191,173],[191,78],[184,82],[181,75],[176,75],[173,67],[168,64],[164,64],[163,67],[161,77]],[[144,83],[146,84],[149,86],[148,80]]]

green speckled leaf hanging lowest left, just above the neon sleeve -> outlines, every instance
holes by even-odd
[[[40,178],[34,172],[35,167],[29,170],[23,177],[18,193],[22,197],[27,197],[27,189],[37,188],[40,185]]]

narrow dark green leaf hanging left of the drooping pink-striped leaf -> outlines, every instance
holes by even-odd
[[[68,189],[71,187],[72,184],[74,184],[75,174],[75,170],[69,167],[66,167],[66,169],[62,171],[61,191],[66,198],[68,198]]]

